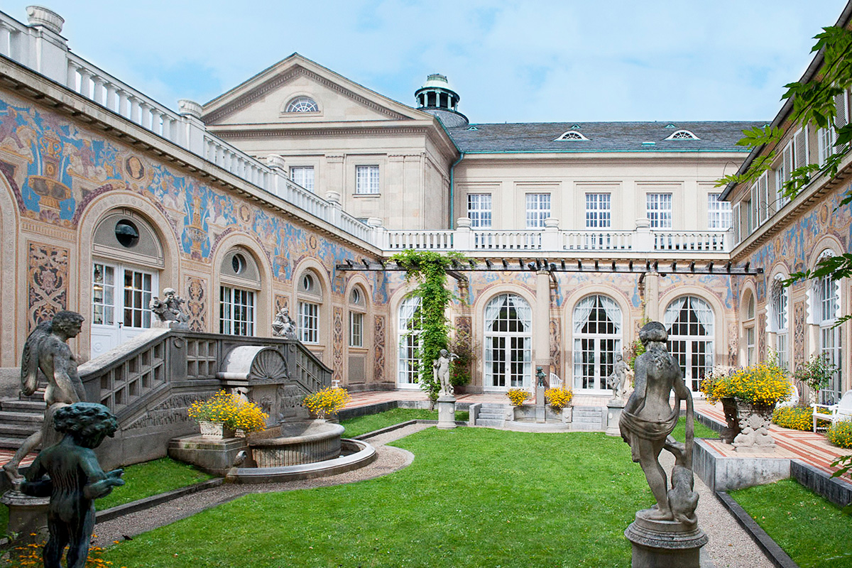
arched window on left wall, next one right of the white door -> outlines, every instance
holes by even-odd
[[[255,335],[256,295],[260,270],[248,250],[229,250],[222,259],[219,286],[219,333]]]

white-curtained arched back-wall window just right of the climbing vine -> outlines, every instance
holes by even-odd
[[[533,377],[533,310],[520,295],[501,294],[485,307],[485,387],[529,387]]]

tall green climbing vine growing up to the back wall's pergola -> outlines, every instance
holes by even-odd
[[[438,399],[440,383],[432,375],[431,361],[438,359],[441,349],[448,349],[450,343],[449,321],[446,307],[453,295],[446,287],[446,271],[453,262],[463,261],[463,255],[447,253],[442,255],[432,250],[406,249],[390,257],[400,268],[406,271],[406,282],[416,280],[420,284],[412,296],[420,298],[418,315],[423,318],[423,330],[417,336],[419,345],[419,384],[423,392],[433,402]]]

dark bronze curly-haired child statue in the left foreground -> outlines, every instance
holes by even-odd
[[[95,527],[95,499],[124,485],[124,470],[104,472],[93,451],[115,434],[118,422],[103,404],[86,402],[65,405],[53,418],[53,426],[64,437],[38,454],[26,471],[22,490],[30,496],[50,496],[44,565],[60,566],[67,546],[68,568],[83,568]]]

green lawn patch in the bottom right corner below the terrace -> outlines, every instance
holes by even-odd
[[[795,479],[731,496],[801,568],[852,567],[852,517]]]

